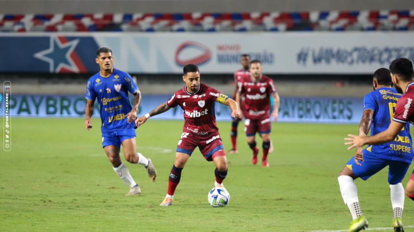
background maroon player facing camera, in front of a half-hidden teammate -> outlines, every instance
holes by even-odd
[[[238,89],[236,94],[236,102],[240,100],[240,96],[245,94],[246,100],[244,105],[244,130],[247,136],[247,143],[253,150],[252,163],[257,163],[257,154],[259,149],[256,147],[256,132],[259,132],[263,138],[263,157],[262,165],[269,167],[267,162],[267,154],[270,148],[270,97],[275,100],[275,108],[272,113],[275,122],[278,118],[279,95],[273,83],[273,80],[262,74],[262,64],[259,60],[250,63],[250,73],[242,77],[238,81]]]

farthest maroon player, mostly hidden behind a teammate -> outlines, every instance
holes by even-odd
[[[250,55],[249,54],[241,55],[240,64],[243,67],[234,73],[235,86],[234,86],[234,92],[233,92],[233,98],[232,98],[233,100],[236,100],[237,82],[241,80],[243,76],[246,76],[246,75],[250,76]],[[240,118],[233,119],[233,121],[231,122],[230,137],[231,137],[232,148],[230,151],[227,152],[228,154],[238,153],[237,151],[237,126],[238,126],[239,121],[241,121],[244,115],[243,109],[244,109],[245,99],[246,99],[245,95],[242,95],[240,98],[240,101],[237,102],[240,106]],[[270,97],[270,111],[273,112],[273,110],[274,110],[274,101],[273,101],[273,98]],[[272,153],[272,152],[273,152],[273,143],[272,143],[272,140],[270,140],[269,153]]]

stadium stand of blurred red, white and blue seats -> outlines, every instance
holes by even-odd
[[[1,32],[375,30],[414,30],[414,10],[0,15]]]

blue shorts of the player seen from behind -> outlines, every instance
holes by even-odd
[[[366,153],[364,153],[363,156],[364,162],[358,161],[358,163],[361,164],[361,166],[359,166],[355,163],[354,157],[349,160],[347,167],[363,180],[368,179],[386,166],[389,166],[388,182],[390,184],[397,184],[404,178],[409,167],[409,163],[396,160],[384,160]]]

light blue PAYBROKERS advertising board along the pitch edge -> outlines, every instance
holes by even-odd
[[[139,116],[171,98],[171,95],[143,95]],[[133,98],[130,96],[130,102]],[[10,100],[14,117],[85,117],[87,100],[84,95],[13,95]],[[231,111],[215,104],[217,121],[230,121]],[[0,105],[0,110],[3,110]],[[304,98],[281,97],[279,122],[303,123],[359,123],[362,116],[362,98]],[[94,117],[99,117],[95,102]],[[173,108],[153,119],[183,120],[183,109]]]

